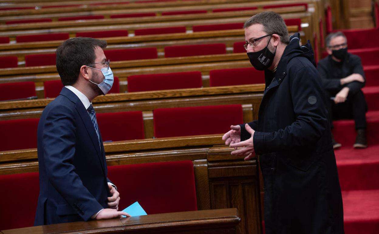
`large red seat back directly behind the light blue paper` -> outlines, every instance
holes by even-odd
[[[148,215],[197,210],[191,161],[108,166],[108,178],[120,192],[120,210],[136,201]]]

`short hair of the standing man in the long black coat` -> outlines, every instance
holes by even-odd
[[[253,24],[262,24],[263,29],[267,34],[277,34],[280,36],[280,41],[284,44],[288,44],[290,36],[288,35],[288,29],[285,22],[279,14],[273,11],[264,11],[258,13],[248,20],[246,20],[243,28],[248,28]]]

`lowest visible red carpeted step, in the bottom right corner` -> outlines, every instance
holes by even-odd
[[[379,190],[343,191],[345,234],[379,232]]]

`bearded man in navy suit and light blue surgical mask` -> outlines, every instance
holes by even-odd
[[[113,73],[106,41],[71,38],[56,50],[64,85],[38,125],[39,186],[34,225],[128,215],[107,176],[105,152],[92,99],[108,93]]]

